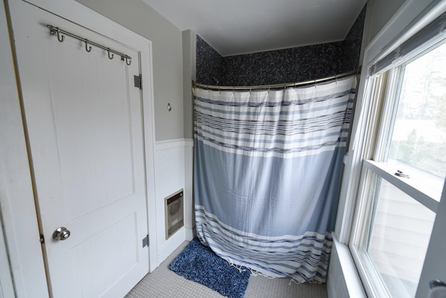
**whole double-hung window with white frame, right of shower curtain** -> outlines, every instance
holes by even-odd
[[[445,183],[446,44],[426,45],[367,79],[350,248],[371,297],[415,297]]]

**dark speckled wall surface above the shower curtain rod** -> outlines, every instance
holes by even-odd
[[[345,40],[285,50],[222,57],[197,36],[197,82],[252,86],[315,80],[359,66],[366,7]]]

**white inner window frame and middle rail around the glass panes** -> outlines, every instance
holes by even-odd
[[[373,86],[373,91],[369,94],[371,113],[364,144],[364,158],[362,159],[362,172],[357,196],[358,204],[348,246],[365,290],[371,297],[391,297],[386,290],[383,279],[373,265],[371,258],[369,258],[367,249],[362,250],[368,244],[371,222],[374,217],[376,198],[370,197],[368,192],[375,187],[375,179],[385,179],[392,186],[403,191],[410,198],[434,213],[438,208],[438,201],[422,191],[413,180],[394,175],[396,169],[387,165],[383,160],[389,146],[389,137],[392,135],[404,68],[426,52],[430,52],[438,45],[445,43],[445,39],[444,36],[441,36],[436,40],[436,43],[430,45],[428,50],[415,52],[410,59],[390,68],[382,75],[371,75],[367,78],[369,84]]]

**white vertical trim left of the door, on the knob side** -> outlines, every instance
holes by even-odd
[[[47,297],[47,281],[39,242],[36,207],[29,172],[20,100],[11,52],[6,9],[0,8],[0,207],[5,249],[1,260],[1,288],[5,297],[10,285],[17,297]],[[8,253],[8,255],[3,255]],[[10,279],[10,281],[8,281]],[[14,282],[14,284],[12,283]]]

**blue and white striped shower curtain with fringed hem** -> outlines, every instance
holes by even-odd
[[[253,273],[325,282],[355,87],[194,89],[203,244]]]

